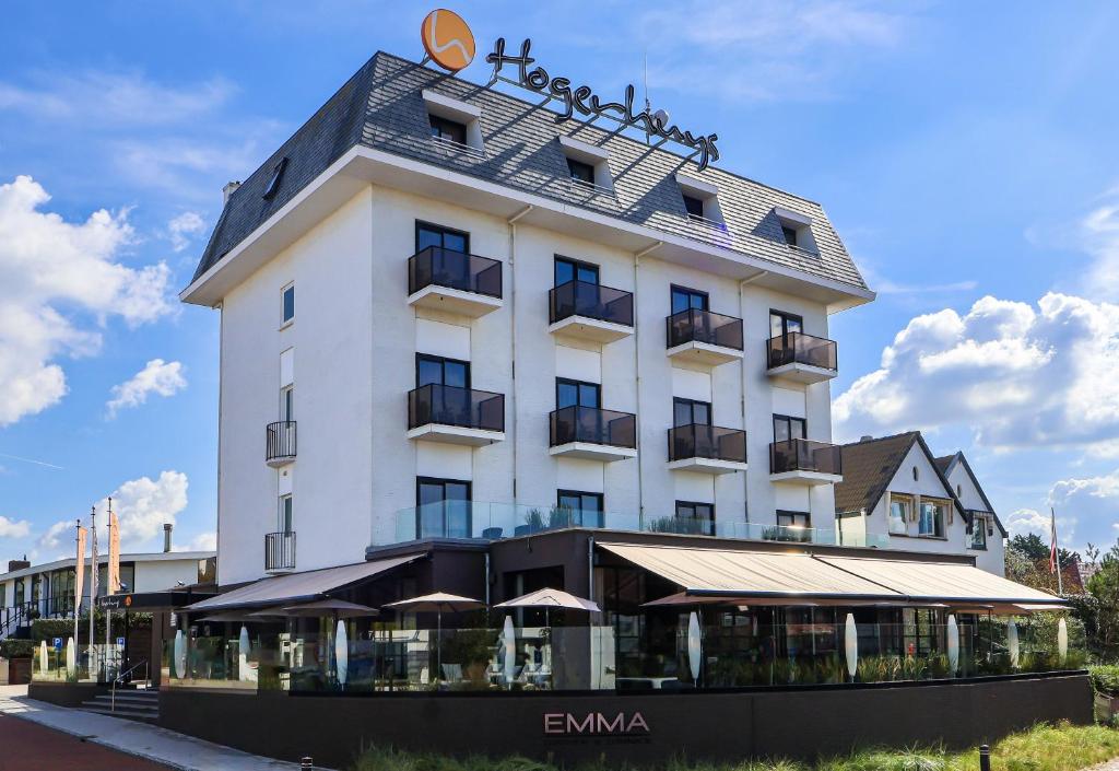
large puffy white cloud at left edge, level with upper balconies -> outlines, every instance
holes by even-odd
[[[0,426],[66,394],[55,360],[96,353],[96,325],[110,316],[143,324],[172,309],[166,264],[129,268],[117,260],[133,238],[125,212],[101,210],[69,223],[39,211],[49,199],[30,177],[0,185]]]

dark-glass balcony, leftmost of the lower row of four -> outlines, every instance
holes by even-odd
[[[505,396],[430,383],[408,392],[410,439],[481,447],[505,439]]]

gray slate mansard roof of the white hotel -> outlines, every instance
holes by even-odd
[[[481,109],[485,158],[444,149],[430,139],[421,93],[425,89]],[[693,160],[675,152],[651,149],[622,134],[611,136],[579,120],[556,123],[554,114],[538,104],[379,52],[231,196],[195,278],[330,164],[356,145],[364,145],[866,288],[819,204],[720,168],[697,171]],[[567,184],[565,156],[556,140],[560,134],[601,145],[610,152],[614,196],[576,191]],[[266,201],[262,194],[282,158],[288,158],[288,165],[280,189]],[[718,187],[720,208],[728,232],[687,219],[675,178],[677,171]],[[774,207],[811,217],[818,254],[784,242]]]

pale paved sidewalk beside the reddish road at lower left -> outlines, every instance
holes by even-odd
[[[27,698],[27,686],[0,686],[0,714],[181,771],[299,771],[298,763],[250,755],[145,723],[36,702]]]

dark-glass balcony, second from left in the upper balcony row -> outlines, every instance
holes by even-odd
[[[586,281],[548,291],[548,332],[606,344],[633,334],[633,295]]]

